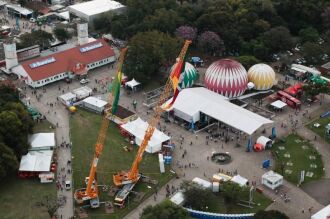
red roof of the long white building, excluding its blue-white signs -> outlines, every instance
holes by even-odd
[[[86,52],[80,52],[80,48],[91,46],[97,43],[102,43],[102,46]],[[63,52],[31,59],[24,62],[22,66],[33,81],[38,81],[63,72],[71,71],[73,62],[87,65],[89,63],[96,62],[114,55],[115,53],[113,49],[104,40],[100,39],[91,43],[84,44],[82,46],[77,46],[75,48],[65,50]],[[47,60],[52,57],[55,58],[55,62],[35,68],[30,67],[30,64],[32,63]]]

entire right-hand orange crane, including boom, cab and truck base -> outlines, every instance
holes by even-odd
[[[141,174],[139,174],[139,164],[142,160],[143,153],[148,145],[150,138],[152,137],[155,127],[159,122],[160,116],[163,113],[163,104],[169,99],[172,89],[176,89],[178,85],[178,77],[173,77],[173,74],[181,73],[181,68],[184,62],[184,57],[188,50],[191,41],[186,41],[179,57],[177,58],[177,63],[173,68],[170,77],[168,78],[163,93],[160,95],[158,103],[155,108],[155,113],[149,122],[149,125],[144,135],[143,141],[139,147],[139,150],[136,154],[135,160],[131,166],[131,169],[128,172],[121,171],[113,175],[113,182],[116,186],[122,187],[122,189],[117,193],[115,197],[114,204],[120,207],[124,207],[125,200],[129,195],[130,191],[133,189],[134,185],[139,181]]]

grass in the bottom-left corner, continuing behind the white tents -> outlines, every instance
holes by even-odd
[[[51,132],[50,123],[45,121],[34,126],[34,132]],[[41,184],[39,179],[21,179],[16,176],[7,177],[0,183],[0,218],[17,219],[49,218],[45,207],[37,206],[45,200],[45,196],[56,200],[55,183]]]

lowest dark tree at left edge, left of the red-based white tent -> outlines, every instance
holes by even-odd
[[[18,161],[14,151],[0,141],[0,179],[14,173],[18,168]]]

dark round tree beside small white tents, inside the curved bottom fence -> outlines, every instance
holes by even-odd
[[[210,199],[210,197],[212,197],[212,191],[203,189],[198,185],[186,187],[183,195],[185,198],[185,206],[194,210],[206,210],[213,202],[213,200]]]

